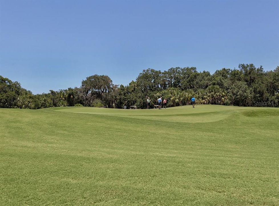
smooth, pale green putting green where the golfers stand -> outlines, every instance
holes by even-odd
[[[243,108],[242,108],[243,109]],[[247,110],[248,108],[245,108]],[[252,108],[249,108],[252,109]],[[253,108],[254,109],[254,108]],[[238,112],[233,106],[217,106],[217,105],[198,105],[195,108],[192,106],[181,106],[167,109],[150,109],[150,110],[122,110],[122,109],[107,109],[94,107],[71,107],[71,108],[53,108],[59,112],[73,112],[84,114],[99,114],[120,116],[123,118],[136,118],[145,120],[155,120],[162,122],[215,122],[223,120],[231,114]]]

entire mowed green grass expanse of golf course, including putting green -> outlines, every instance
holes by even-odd
[[[279,205],[279,109],[0,109],[1,205]]]

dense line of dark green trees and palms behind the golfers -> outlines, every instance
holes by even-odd
[[[59,106],[146,108],[146,99],[156,104],[167,99],[167,106],[197,104],[234,106],[277,106],[279,102],[279,66],[264,71],[262,66],[239,64],[238,69],[223,68],[214,74],[198,72],[195,67],[175,67],[167,71],[143,70],[129,85],[115,85],[106,75],[92,75],[80,87],[32,94],[0,76],[0,108],[40,109]]]

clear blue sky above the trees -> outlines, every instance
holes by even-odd
[[[279,1],[0,1],[0,75],[34,94],[94,74],[279,65]]]

